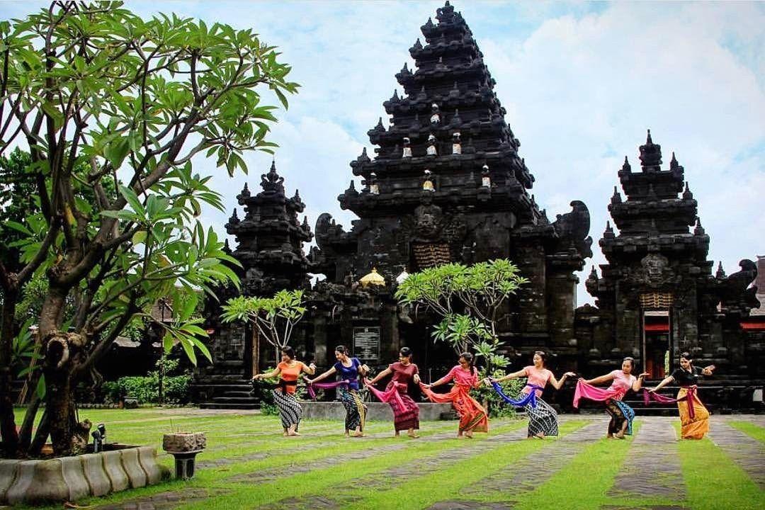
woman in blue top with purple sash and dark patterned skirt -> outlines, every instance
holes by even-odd
[[[363,437],[364,421],[366,421],[366,405],[359,395],[359,377],[369,372],[369,367],[363,365],[358,358],[348,356],[347,349],[343,346],[335,347],[337,363],[308,382],[313,384],[333,374],[340,375],[340,380],[348,381],[347,385],[340,385],[340,400],[345,406],[345,435],[347,437]],[[353,430],[353,434],[350,431]]]

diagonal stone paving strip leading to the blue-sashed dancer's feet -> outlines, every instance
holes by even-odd
[[[454,431],[450,431],[448,434],[437,434],[431,436],[430,440],[439,440],[450,438],[454,436]],[[402,466],[395,466],[389,469],[383,469],[376,473],[370,473],[367,476],[360,476],[358,478],[347,480],[339,486],[334,486],[331,489],[333,493],[332,498],[317,497],[316,495],[306,495],[300,498],[288,498],[281,501],[274,502],[269,505],[265,505],[259,508],[264,510],[302,510],[303,508],[321,508],[322,510],[342,508],[343,505],[348,505],[357,499],[356,490],[363,486],[365,489],[374,489],[375,491],[384,491],[399,486],[403,482],[412,479],[413,474],[416,476],[427,476],[435,473],[443,463],[455,463],[460,460],[465,460],[470,456],[475,456],[489,450],[496,448],[498,443],[506,443],[513,440],[525,440],[526,429],[520,428],[517,430],[511,430],[505,434],[498,434],[496,436],[488,437],[486,440],[475,442],[469,439],[465,439],[461,446],[458,446],[452,450],[440,451],[432,453],[428,456],[422,456],[417,460],[410,463],[405,463]],[[430,460],[436,460],[438,462],[429,462]]]

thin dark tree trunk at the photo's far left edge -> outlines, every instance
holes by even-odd
[[[2,305],[0,325],[0,436],[3,456],[18,454],[18,432],[13,414],[13,374],[11,372],[11,346],[13,345],[13,317],[16,311],[18,292],[6,291]]]

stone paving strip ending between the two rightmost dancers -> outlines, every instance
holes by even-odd
[[[672,421],[643,416],[640,424],[640,432],[608,494],[621,499],[685,499],[685,480]]]

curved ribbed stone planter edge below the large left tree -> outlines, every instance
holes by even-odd
[[[154,447],[107,447],[57,459],[0,460],[0,505],[76,501],[152,485],[169,474]]]

